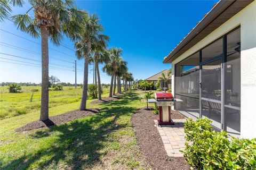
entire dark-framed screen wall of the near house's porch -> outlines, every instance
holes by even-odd
[[[199,117],[201,110],[201,116],[210,118],[215,128],[238,137],[241,120],[240,53],[241,31],[238,27],[175,64],[174,95],[183,100],[175,103],[175,109],[194,119]]]

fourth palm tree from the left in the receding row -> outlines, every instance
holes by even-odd
[[[122,53],[122,49],[118,49],[115,47],[110,48],[110,50],[109,50],[109,59],[110,60],[102,68],[103,72],[106,72],[108,75],[111,76],[109,97],[112,97],[112,94],[113,94],[113,81],[114,81],[114,79],[116,79],[116,72],[117,72],[119,64],[122,60],[122,58],[120,57],[121,53]]]

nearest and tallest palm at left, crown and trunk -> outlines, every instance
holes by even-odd
[[[14,2],[14,0],[13,0]],[[18,1],[15,1],[18,2]],[[28,1],[31,8],[25,14],[12,16],[14,24],[21,30],[28,32],[32,37],[41,36],[42,50],[42,95],[40,121],[49,119],[49,47],[48,38],[55,45],[59,45],[62,33],[68,37],[81,28],[85,12],[76,9],[74,1]],[[22,3],[21,3],[22,4]],[[28,14],[34,9],[35,16]]]

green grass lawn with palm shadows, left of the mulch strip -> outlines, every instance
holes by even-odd
[[[65,97],[58,92],[53,93],[52,98],[50,96],[50,102],[57,103],[50,103],[50,116],[79,107],[82,90],[69,90],[71,93]],[[122,99],[107,104],[90,105],[92,99],[89,99],[87,107],[101,108],[98,114],[50,129],[14,132],[22,125],[38,120],[39,110],[31,109],[26,114],[0,120],[0,169],[147,169],[130,121],[137,108],[146,106],[139,100],[141,92],[127,92]],[[17,95],[23,94],[25,92]],[[74,101],[58,103],[61,98]],[[15,96],[9,99],[10,103],[16,102],[17,107],[21,107],[17,100],[19,97]],[[8,104],[1,100],[1,107],[3,102]]]

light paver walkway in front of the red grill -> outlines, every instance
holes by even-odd
[[[183,157],[179,150],[185,149],[185,119],[174,119],[172,121],[174,125],[158,125],[157,120],[155,120],[155,124],[163,140],[167,155],[170,157]]]

